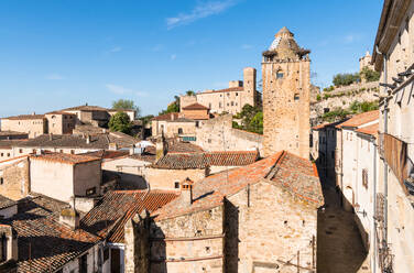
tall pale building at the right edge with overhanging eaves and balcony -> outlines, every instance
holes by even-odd
[[[385,0],[372,51],[380,77],[378,241],[381,271],[414,269],[414,1]],[[381,195],[382,194],[382,195]]]

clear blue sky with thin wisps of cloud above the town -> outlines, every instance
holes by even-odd
[[[132,99],[157,113],[188,89],[226,88],[286,25],[313,81],[358,70],[378,0],[1,0],[0,117]]]

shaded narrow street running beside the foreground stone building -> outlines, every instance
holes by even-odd
[[[318,215],[318,273],[370,273],[353,214],[341,209],[333,187],[324,189],[325,211]]]

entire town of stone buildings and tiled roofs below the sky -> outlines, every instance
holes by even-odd
[[[384,0],[326,88],[280,22],[261,67],[156,116],[1,117],[0,272],[414,272],[413,14]]]

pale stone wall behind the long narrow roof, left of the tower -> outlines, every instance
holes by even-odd
[[[209,152],[258,149],[262,155],[263,135],[233,129],[231,122],[231,114],[200,122],[196,130],[196,144]]]

